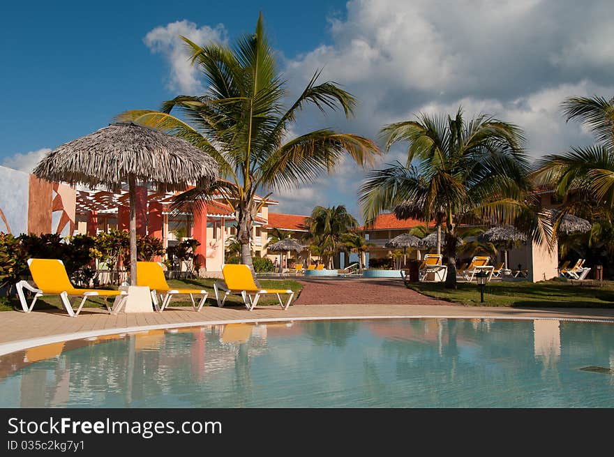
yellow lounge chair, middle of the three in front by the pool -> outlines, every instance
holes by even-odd
[[[153,299],[153,306],[155,306],[156,311],[160,313],[170,304],[173,295],[189,295],[192,301],[192,308],[195,311],[200,311],[202,309],[204,301],[207,300],[207,296],[209,295],[209,292],[202,289],[172,289],[166,282],[162,265],[158,262],[137,262],[137,285],[149,287],[151,298]],[[160,294],[160,300],[162,301],[161,306],[158,304],[158,294]],[[198,306],[196,306],[196,302],[194,301],[195,295],[202,295],[202,298],[198,302]]]

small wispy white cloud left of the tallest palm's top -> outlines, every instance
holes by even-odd
[[[181,36],[185,36],[197,45],[211,41],[220,43],[227,39],[226,30],[222,24],[216,27],[197,27],[193,22],[182,20],[171,22],[164,27],[156,27],[144,38],[151,52],[163,54],[170,65],[168,89],[187,95],[202,93],[198,70],[190,65],[186,43],[181,40]]]

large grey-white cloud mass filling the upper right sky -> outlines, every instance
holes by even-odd
[[[386,123],[463,105],[467,117],[483,112],[521,126],[532,158],[590,144],[590,133],[565,123],[560,103],[614,95],[611,17],[611,0],[350,0],[343,18],[330,20],[328,44],[282,56],[280,66],[294,95],[322,68],[321,81],[357,96],[356,116],[305,110],[293,133],[333,127],[376,138]],[[403,160],[403,149],[382,163]],[[347,204],[358,216],[362,177],[347,162],[301,192],[276,196],[284,211],[296,212],[300,195],[303,208]]]

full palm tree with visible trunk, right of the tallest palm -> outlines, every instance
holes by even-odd
[[[534,237],[546,241],[548,227],[526,197],[531,189],[529,164],[517,126],[485,114],[465,121],[459,108],[454,117],[420,114],[412,121],[391,123],[381,135],[387,149],[396,142],[409,143],[407,162],[368,174],[359,191],[366,223],[394,209],[398,218],[445,225],[446,287],[456,287],[459,223],[514,223],[523,218]]]

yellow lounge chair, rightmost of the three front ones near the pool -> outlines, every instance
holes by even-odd
[[[290,302],[294,297],[294,292],[290,289],[261,289],[254,283],[252,272],[247,265],[244,264],[228,264],[222,267],[225,285],[220,284],[220,281],[214,284],[216,299],[218,306],[222,308],[229,294],[241,294],[243,303],[248,310],[253,310],[258,303],[261,295],[276,294],[279,305],[283,310],[287,310]],[[220,292],[225,292],[224,297],[220,298]],[[281,301],[280,294],[289,294],[286,304]]]

